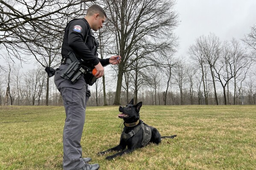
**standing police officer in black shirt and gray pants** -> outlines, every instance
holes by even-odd
[[[91,29],[97,31],[103,27],[106,13],[98,5],[88,8],[86,16],[82,19],[71,20],[65,28],[62,43],[62,64],[55,72],[54,81],[61,92],[66,111],[65,126],[63,130],[63,169],[64,170],[97,170],[99,164],[88,164],[91,158],[82,158],[80,140],[85,123],[85,108],[90,97],[88,84],[81,76],[74,84],[60,75],[65,71],[71,60],[69,52],[74,52],[78,59],[82,59],[87,67],[95,67],[96,78],[104,75],[103,66],[109,63],[118,64],[120,56],[108,59],[97,58],[97,40]]]

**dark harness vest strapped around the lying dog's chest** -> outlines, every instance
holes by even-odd
[[[147,124],[144,124],[144,122],[142,121],[142,123],[140,125],[138,125],[137,127],[135,127],[131,132],[129,133],[122,133],[122,136],[124,138],[125,141],[127,141],[129,138],[131,138],[133,135],[135,135],[136,133],[138,133],[138,131],[142,129],[142,141],[141,141],[141,147],[144,147],[148,144],[148,142],[150,141],[151,138],[151,130],[150,127]]]

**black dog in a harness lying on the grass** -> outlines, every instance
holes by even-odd
[[[109,151],[121,151],[112,156],[107,156],[106,159],[113,159],[116,156],[121,156],[125,153],[131,153],[133,150],[139,147],[146,146],[149,142],[153,142],[159,144],[162,138],[174,138],[177,135],[172,136],[162,136],[159,131],[150,127],[147,124],[144,124],[143,121],[140,120],[139,111],[142,106],[142,102],[139,102],[136,105],[133,105],[133,99],[126,107],[119,107],[119,112],[122,112],[118,115],[119,118],[124,119],[124,130],[121,135],[120,144],[118,146],[113,147],[109,150],[99,152],[98,155],[106,154]],[[124,150],[125,148],[127,150]]]

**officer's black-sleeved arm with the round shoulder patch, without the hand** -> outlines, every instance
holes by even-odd
[[[68,32],[68,45],[82,58],[84,61],[92,63],[94,66],[100,61],[96,58],[83,42],[83,37],[87,36],[87,26],[84,21],[74,20],[70,23]]]

